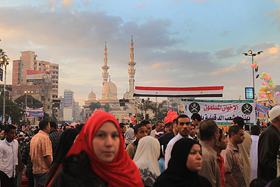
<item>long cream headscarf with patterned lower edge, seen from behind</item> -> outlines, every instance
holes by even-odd
[[[139,140],[133,161],[137,165],[144,186],[152,186],[159,175],[159,154],[161,146],[159,140],[152,136],[145,136]]]

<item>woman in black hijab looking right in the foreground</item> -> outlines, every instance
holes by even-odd
[[[198,175],[201,166],[200,144],[189,138],[182,138],[174,144],[168,168],[156,179],[154,187],[210,187],[208,179]]]

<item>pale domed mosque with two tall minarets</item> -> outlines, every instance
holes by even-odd
[[[135,114],[137,112],[137,100],[135,97],[133,97],[134,91],[135,91],[135,61],[134,61],[134,48],[133,48],[133,40],[131,38],[130,42],[130,61],[128,62],[128,75],[129,75],[129,90],[126,91],[124,96],[122,98],[128,99],[129,102],[126,102],[126,107],[120,107],[119,105],[119,99],[117,98],[117,86],[115,83],[113,83],[110,80],[110,75],[108,73],[108,69],[110,68],[108,66],[107,61],[107,46],[105,43],[104,47],[104,64],[102,66],[103,72],[102,72],[102,98],[96,99],[95,93],[91,91],[89,93],[88,100],[84,101],[84,121],[86,121],[87,118],[89,118],[92,114],[92,111],[90,109],[91,102],[100,102],[102,106],[104,106],[106,103],[110,104],[110,111],[109,113],[112,113],[115,115],[117,120],[119,122],[127,122],[130,120],[130,116],[132,114]],[[121,99],[122,99],[121,98]],[[141,113],[141,112],[137,112]],[[152,111],[148,111],[150,116],[152,116]],[[128,119],[128,120],[127,120]]]

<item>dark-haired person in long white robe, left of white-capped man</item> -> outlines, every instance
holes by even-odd
[[[261,133],[261,127],[253,125],[250,127],[250,134],[252,137],[252,144],[250,147],[251,158],[251,181],[257,179],[257,145],[259,144],[259,134]]]

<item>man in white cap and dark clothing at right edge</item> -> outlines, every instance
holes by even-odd
[[[268,115],[271,125],[259,137],[257,177],[271,181],[277,177],[277,154],[280,145],[280,106],[273,107]]]

